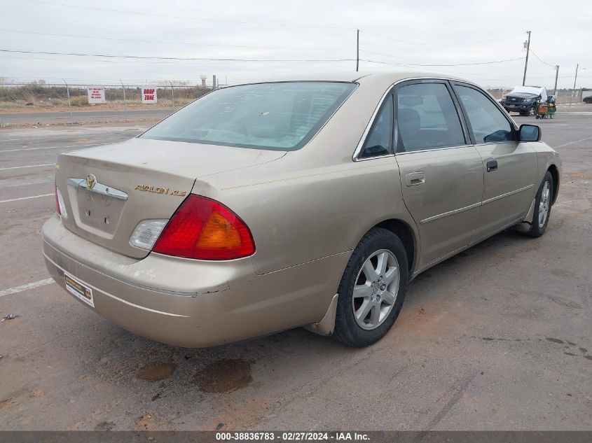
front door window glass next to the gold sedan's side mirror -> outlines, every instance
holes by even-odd
[[[460,85],[455,85],[455,90],[467,113],[477,144],[516,140],[508,119],[483,93]]]

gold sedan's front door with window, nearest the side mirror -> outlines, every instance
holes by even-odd
[[[524,218],[536,192],[537,155],[530,143],[518,143],[514,123],[486,92],[467,83],[453,87],[483,159],[476,242]]]

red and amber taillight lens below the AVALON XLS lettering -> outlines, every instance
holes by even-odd
[[[200,260],[231,260],[255,252],[251,231],[215,200],[190,195],[167,223],[152,251]]]

